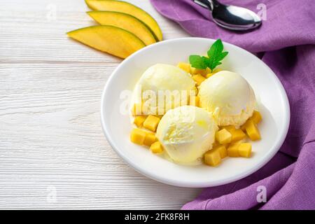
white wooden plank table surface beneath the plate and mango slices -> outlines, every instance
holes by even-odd
[[[147,0],[165,39],[188,36]],[[0,6],[0,209],[179,209],[200,189],[142,176],[107,143],[102,90],[121,62],[67,38],[94,25],[84,0]]]

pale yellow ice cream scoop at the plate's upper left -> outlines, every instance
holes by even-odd
[[[163,115],[169,109],[187,105],[195,82],[190,74],[170,64],[155,64],[139,79],[132,99],[146,114]]]

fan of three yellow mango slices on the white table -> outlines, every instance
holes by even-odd
[[[67,34],[96,50],[126,58],[146,45],[162,41],[155,19],[126,1],[85,0],[88,15],[99,25],[69,31]]]

